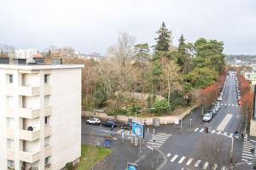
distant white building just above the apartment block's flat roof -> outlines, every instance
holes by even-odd
[[[38,54],[40,54],[40,51],[35,48],[16,49],[15,50],[15,58],[27,59],[27,62],[32,62],[33,57]]]

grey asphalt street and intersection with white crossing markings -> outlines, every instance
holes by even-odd
[[[183,119],[183,127],[161,125],[147,127],[142,144],[141,169],[249,169],[253,159],[250,152],[254,140],[247,141],[234,137],[241,129],[241,111],[236,99],[235,77],[227,78],[221,107],[211,122],[202,122],[201,109]],[[209,132],[205,133],[205,127]],[[82,126],[82,143],[104,143],[109,136],[109,127]],[[131,132],[115,129],[115,139],[111,141],[112,156],[108,156],[96,169],[125,169],[127,162],[139,164],[139,146],[131,144]],[[233,148],[232,148],[233,145]],[[237,166],[236,166],[237,165]]]

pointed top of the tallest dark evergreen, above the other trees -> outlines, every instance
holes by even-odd
[[[169,51],[172,33],[171,31],[168,31],[168,29],[166,29],[165,22],[162,23],[162,26],[158,31],[156,31],[156,33],[158,34],[158,37],[154,38],[154,40],[156,41],[156,45],[154,45],[154,51],[155,52]]]

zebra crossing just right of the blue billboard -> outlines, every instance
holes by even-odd
[[[154,148],[160,148],[171,136],[172,134],[170,133],[156,133],[148,140],[147,145]]]

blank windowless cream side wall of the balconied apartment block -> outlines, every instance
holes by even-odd
[[[52,169],[59,170],[81,153],[81,69],[51,70]]]

